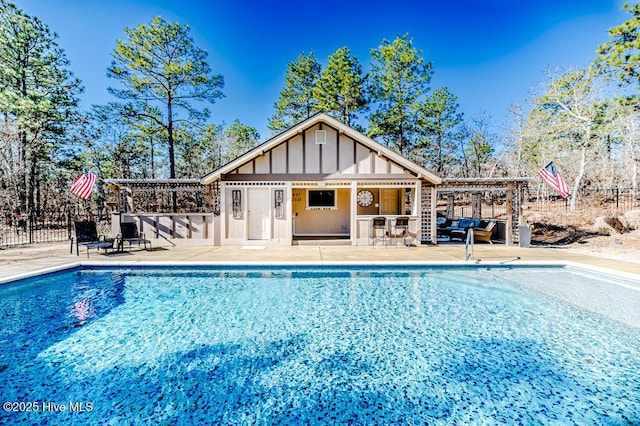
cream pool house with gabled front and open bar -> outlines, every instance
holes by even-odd
[[[215,186],[220,245],[372,242],[373,218],[407,244],[434,242],[441,179],[362,133],[316,114],[201,179]],[[382,231],[380,231],[382,234]]]

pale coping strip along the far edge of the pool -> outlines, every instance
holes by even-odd
[[[56,266],[45,267],[22,274],[10,275],[0,278],[0,285],[14,281],[33,278],[39,275],[46,275],[61,272],[83,266],[89,267],[135,267],[135,266],[457,266],[457,267],[486,267],[486,266],[554,266],[565,267],[572,270],[593,272],[609,277],[619,277],[640,284],[640,275],[630,272],[618,271],[611,268],[587,265],[584,263],[561,260],[473,260],[473,261],[77,261]],[[638,287],[640,290],[640,286]]]

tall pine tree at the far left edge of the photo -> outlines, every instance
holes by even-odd
[[[38,213],[48,176],[41,173],[78,118],[80,80],[57,35],[40,19],[0,0],[0,123],[15,129],[11,161],[20,213]]]

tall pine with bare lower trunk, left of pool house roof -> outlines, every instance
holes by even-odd
[[[189,26],[156,16],[149,25],[125,32],[127,40],[117,42],[108,69],[108,75],[125,88],[109,91],[127,101],[126,115],[154,121],[164,129],[169,177],[175,178],[176,124],[206,119],[208,110],[197,109],[192,102],[214,103],[223,97],[224,79],[211,73],[207,52],[194,45]]]

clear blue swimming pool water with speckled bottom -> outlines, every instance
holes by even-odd
[[[640,286],[619,284],[560,267],[6,284],[0,424],[640,424]]]

